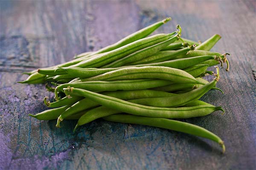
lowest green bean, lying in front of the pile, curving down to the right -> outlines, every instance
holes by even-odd
[[[217,142],[218,144],[221,145],[222,152],[223,153],[225,152],[225,145],[220,137],[210,132],[209,130],[204,129],[203,127],[192,125],[186,122],[180,122],[177,120],[170,120],[170,119],[163,119],[163,118],[151,118],[151,117],[144,117],[144,116],[119,115],[119,114],[106,116],[103,119],[110,122],[120,122],[120,123],[160,127],[164,129],[188,133],[195,136],[200,136],[203,138],[210,139],[214,142]]]

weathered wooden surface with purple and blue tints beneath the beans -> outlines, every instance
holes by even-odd
[[[183,28],[183,37],[222,39],[230,52],[221,70],[221,95],[202,99],[226,113],[188,119],[220,136],[227,151],[207,139],[103,120],[72,133],[76,121],[37,121],[47,108],[44,85],[21,85],[23,71],[56,65],[96,50],[161,20],[156,32]],[[256,1],[0,1],[0,169],[256,169]]]

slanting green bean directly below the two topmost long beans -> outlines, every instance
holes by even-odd
[[[175,40],[177,40],[179,38],[179,36],[175,36],[172,38],[169,38],[166,41],[163,42],[159,42],[158,44],[149,46],[147,48],[143,48],[139,51],[136,51],[126,57],[123,57],[121,59],[118,59],[114,62],[111,62],[110,64],[104,65],[101,68],[114,68],[114,67],[120,67],[123,65],[127,65],[129,63],[133,63],[134,61],[139,61],[141,59],[144,59],[148,56],[151,56],[155,53],[157,53],[158,51],[160,51],[161,49],[163,49],[164,47],[166,47],[167,45],[171,44],[172,42],[175,42]]]

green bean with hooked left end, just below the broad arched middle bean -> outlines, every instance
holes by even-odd
[[[172,84],[173,82],[161,79],[132,79],[117,81],[92,81],[92,82],[74,82],[58,85],[55,88],[55,99],[58,100],[58,91],[64,92],[63,88],[68,86],[74,88],[87,89],[89,91],[117,91],[117,90],[143,90],[147,88],[160,87]]]

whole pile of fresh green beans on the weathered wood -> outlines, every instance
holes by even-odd
[[[81,125],[103,118],[111,122],[155,126],[201,136],[221,145],[214,133],[173,119],[207,116],[222,111],[199,99],[216,86],[220,79],[218,64],[229,70],[228,53],[209,51],[221,39],[213,35],[199,44],[181,37],[181,27],[169,34],[153,31],[171,18],[145,27],[98,51],[84,52],[73,60],[28,73],[20,83],[46,83],[55,97],[44,104],[52,109],[29,114],[38,120],[78,120]],[[211,71],[216,67],[216,73]],[[208,82],[202,77],[214,76]],[[51,83],[51,84],[50,84]],[[52,86],[53,85],[53,86]]]

